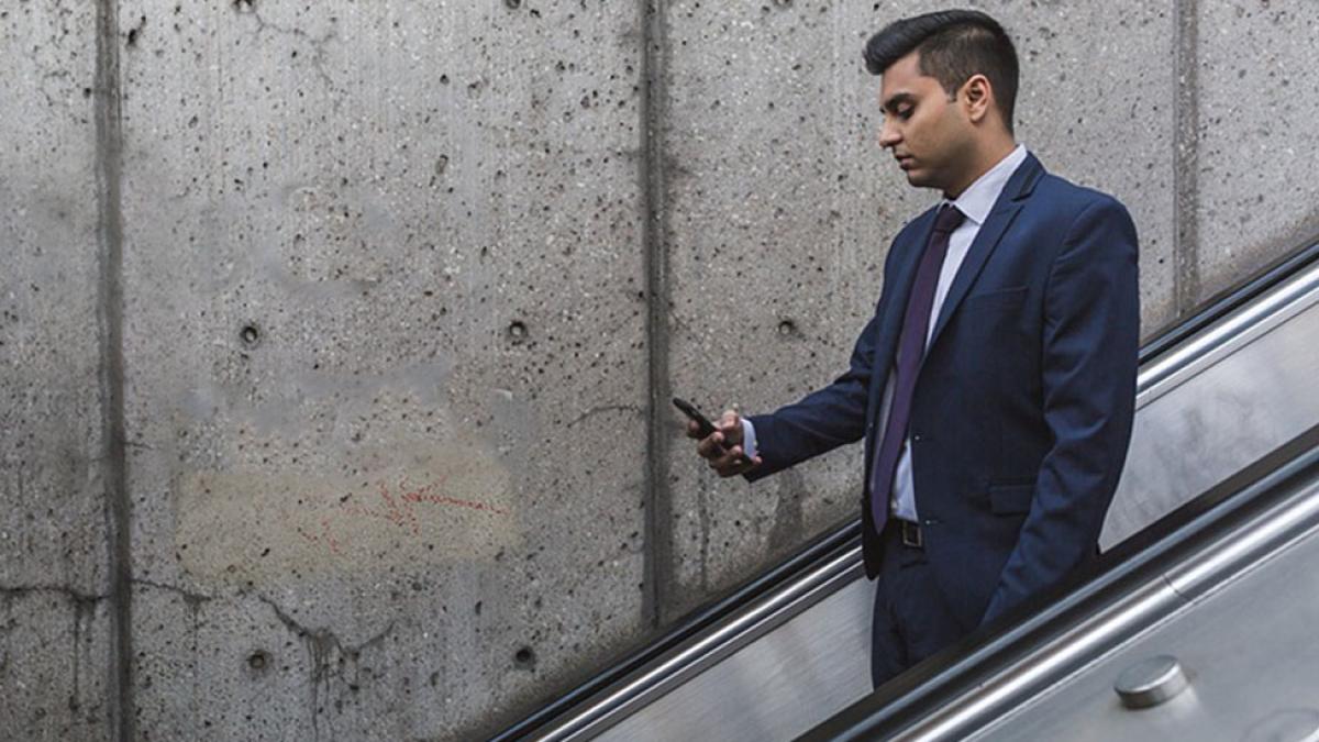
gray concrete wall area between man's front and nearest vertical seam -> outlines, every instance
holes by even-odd
[[[711,416],[827,383],[877,298],[885,238],[922,194],[892,187],[873,78],[840,5],[675,4],[670,13],[674,393]],[[885,185],[890,187],[885,189]],[[893,194],[890,197],[889,194]],[[720,317],[721,316],[721,317]],[[671,452],[670,614],[855,510],[857,452],[749,487]]]

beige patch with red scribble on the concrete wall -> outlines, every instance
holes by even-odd
[[[352,477],[191,471],[179,478],[175,553],[206,584],[493,560],[521,540],[510,475],[474,438],[353,452]]]

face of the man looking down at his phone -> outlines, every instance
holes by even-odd
[[[939,81],[921,74],[918,51],[884,70],[880,145],[897,157],[907,182],[947,191],[963,181],[973,148],[966,114]]]

